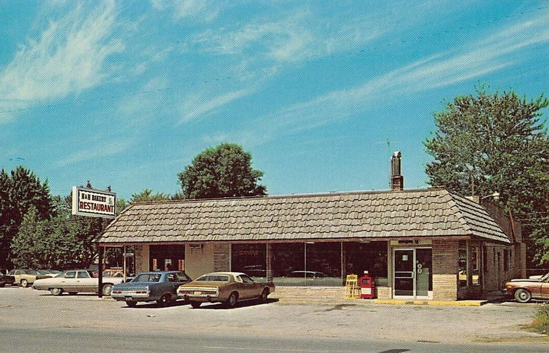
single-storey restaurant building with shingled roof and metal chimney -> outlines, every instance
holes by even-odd
[[[379,298],[458,300],[525,275],[510,215],[445,188],[404,190],[399,169],[395,154],[390,191],[132,204],[98,243],[133,246],[137,271],[243,271],[283,293],[342,297],[347,274],[369,271]]]

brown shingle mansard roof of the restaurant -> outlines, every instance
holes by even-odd
[[[99,243],[479,236],[509,243],[475,202],[443,188],[136,203]]]

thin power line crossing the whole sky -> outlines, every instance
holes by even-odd
[[[530,10],[524,10],[524,11],[518,12],[517,14],[510,14],[510,15],[506,15],[506,16],[495,17],[495,18],[493,18],[491,20],[488,20],[488,21],[471,23],[470,25],[461,25],[461,26],[457,27],[456,29],[447,29],[447,30],[443,30],[443,31],[440,31],[440,32],[435,32],[435,33],[432,33],[432,34],[426,34],[426,35],[423,35],[423,36],[416,36],[414,38],[408,38],[406,40],[395,40],[393,42],[385,41],[383,45],[377,45],[377,46],[369,47],[368,49],[360,49],[358,51],[351,51],[351,52],[348,52],[348,53],[341,53],[341,54],[331,54],[331,55],[325,56],[323,58],[305,60],[304,64],[314,64],[314,63],[318,63],[318,62],[323,62],[325,60],[331,60],[331,59],[335,59],[335,58],[342,58],[342,57],[345,57],[345,56],[361,56],[364,53],[368,53],[369,51],[375,51],[377,49],[382,49],[384,47],[390,47],[391,45],[394,45],[397,42],[398,43],[409,43],[409,42],[414,42],[414,41],[417,41],[417,40],[423,40],[425,38],[440,36],[441,34],[450,34],[450,33],[454,33],[454,32],[459,32],[459,31],[462,31],[464,29],[474,28],[474,27],[478,27],[480,25],[485,25],[487,23],[494,23],[494,22],[505,20],[505,19],[510,19],[510,18],[513,18],[513,17],[516,17],[516,16],[522,16],[522,15],[528,14],[530,12],[537,12],[537,11],[540,11],[540,10],[545,10],[547,8],[549,8],[549,5],[540,6],[538,8],[533,8],[533,9],[530,9]],[[171,89],[174,89],[174,88],[182,88],[182,87],[185,87],[185,86],[196,86],[198,84],[207,84],[207,83],[210,83],[210,82],[222,82],[222,81],[227,81],[227,80],[235,80],[237,78],[243,78],[243,77],[252,76],[252,75],[256,75],[256,74],[270,73],[270,72],[279,71],[279,69],[281,69],[281,68],[283,68],[283,65],[272,66],[270,68],[262,69],[260,71],[255,71],[255,72],[250,72],[250,73],[243,73],[241,75],[232,75],[232,76],[225,76],[225,77],[211,77],[211,78],[208,78],[208,79],[205,79],[205,80],[195,80],[193,82],[187,82],[186,84],[182,84],[182,85],[178,85],[178,86],[167,86],[167,87],[155,88],[155,89],[151,89],[151,90],[141,90],[141,91],[133,92],[133,93],[124,93],[124,94],[121,94],[121,95],[93,97],[91,99],[82,99],[80,101],[69,101],[69,102],[56,103],[56,104],[46,104],[46,105],[42,105],[42,106],[40,106],[40,105],[38,105],[38,106],[27,106],[25,108],[14,108],[14,109],[8,109],[8,110],[0,110],[0,114],[10,113],[10,112],[23,112],[23,111],[26,111],[26,110],[41,109],[41,108],[55,108],[55,107],[60,107],[60,106],[69,106],[69,105],[73,105],[73,104],[76,104],[76,103],[79,103],[79,102],[84,102],[84,101],[85,102],[93,102],[93,101],[102,101],[102,100],[116,99],[116,98],[122,98],[122,97],[135,97],[135,96],[138,96],[138,95],[145,95],[145,94],[149,94],[149,93],[159,92],[159,91],[162,91],[162,90],[171,90]],[[0,101],[1,100],[2,99],[0,99]]]

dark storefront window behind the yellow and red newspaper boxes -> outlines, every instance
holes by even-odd
[[[377,286],[388,286],[386,241],[343,243],[343,258],[344,278],[348,274],[357,274],[360,277],[364,271],[368,271]]]

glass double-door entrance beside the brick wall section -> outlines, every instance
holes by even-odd
[[[432,299],[432,249],[395,249],[393,297]]]

